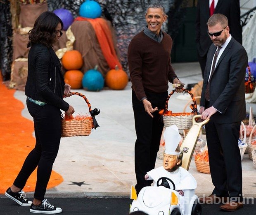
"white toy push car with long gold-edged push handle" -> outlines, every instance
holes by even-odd
[[[204,120],[203,122],[199,122],[197,120],[199,118],[200,115],[193,117],[193,125],[187,132],[180,146],[180,150],[183,153],[181,164],[183,169],[181,169],[181,174],[189,169],[201,127],[209,121]],[[130,206],[130,213],[134,211],[143,211],[149,215],[201,215],[201,204],[195,194],[195,188],[197,187],[195,180],[193,182],[193,180],[185,177],[183,178],[180,175],[184,180],[184,189],[180,189],[182,180],[177,181],[173,178],[175,183],[178,183],[175,185],[170,177],[163,177],[167,174],[163,173],[164,169],[161,170],[159,167],[155,170],[156,171],[152,172],[154,173],[154,176],[151,174],[151,178],[156,182],[156,184],[154,184],[155,186],[143,187],[138,196],[135,194],[135,188],[132,187],[131,199],[134,200]],[[150,173],[150,171],[148,173]],[[184,195],[181,196],[175,191],[175,187],[178,188],[177,190],[183,190]]]

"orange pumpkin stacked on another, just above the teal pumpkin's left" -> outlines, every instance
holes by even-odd
[[[62,65],[66,70],[80,69],[83,65],[83,58],[79,51],[66,51],[62,57]]]

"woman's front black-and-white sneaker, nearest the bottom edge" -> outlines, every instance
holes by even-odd
[[[51,205],[47,199],[44,199],[40,205],[31,204],[30,212],[32,213],[61,213],[61,208]]]

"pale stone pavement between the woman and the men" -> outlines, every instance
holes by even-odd
[[[185,83],[201,80],[197,62],[173,64],[179,79]],[[173,88],[170,85],[169,91]],[[64,182],[47,190],[46,197],[128,197],[130,186],[136,184],[134,173],[134,143],[136,139],[131,102],[131,83],[125,90],[103,89],[100,92],[77,90],[90,101],[92,109],[99,108],[96,116],[100,127],[92,130],[89,136],[62,138],[59,154],[53,166],[61,174]],[[25,103],[24,92],[17,91],[15,97]],[[189,97],[174,93],[170,98],[169,109],[182,112]],[[66,99],[76,113],[85,114],[88,107],[83,98],[74,95]],[[247,104],[249,106],[255,104]],[[23,116],[31,119],[25,108]],[[157,159],[156,167],[162,165]],[[245,197],[256,197],[256,169],[248,154],[242,161],[243,193]],[[189,170],[197,180],[196,193],[210,194],[213,186],[211,176],[197,172],[194,160]],[[27,194],[32,195],[32,194]]]

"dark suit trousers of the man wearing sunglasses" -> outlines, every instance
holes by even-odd
[[[242,164],[238,147],[241,122],[215,123],[210,119],[206,127],[212,194],[230,197],[230,201],[242,199]]]

